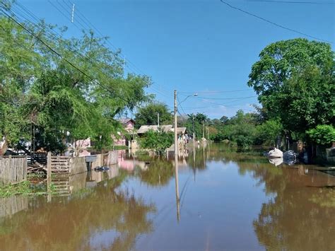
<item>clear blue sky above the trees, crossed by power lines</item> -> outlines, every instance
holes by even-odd
[[[204,112],[211,118],[230,117],[239,109],[253,110],[250,105],[256,104],[257,98],[247,80],[261,49],[271,42],[303,37],[229,8],[219,0],[50,1],[62,13],[49,1],[18,0],[38,18],[66,25],[68,35],[78,36],[80,30],[70,21],[69,6],[74,3],[74,23],[81,27],[80,11],[100,33],[110,37],[110,43],[122,49],[129,61],[127,71],[152,77],[154,83],[148,92],[155,93],[157,100],[172,107],[175,89],[180,101],[189,93],[199,93],[182,102],[184,109],[180,112]],[[315,0],[332,4],[227,2],[335,42],[334,0]]]

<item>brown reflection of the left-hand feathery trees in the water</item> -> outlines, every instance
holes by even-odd
[[[116,187],[122,182],[105,181],[74,197],[42,198],[28,211],[6,218],[0,235],[4,250],[131,250],[136,237],[150,233],[148,214],[153,204]],[[103,236],[103,238],[101,238]],[[102,241],[102,243],[100,242]]]

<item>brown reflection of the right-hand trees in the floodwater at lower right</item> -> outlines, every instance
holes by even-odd
[[[335,250],[335,177],[308,165],[275,167],[266,158],[211,145],[208,160],[230,161],[240,175],[252,175],[271,196],[254,220],[254,231],[267,250]],[[189,160],[192,163],[192,160]]]

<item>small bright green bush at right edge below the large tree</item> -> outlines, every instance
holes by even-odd
[[[316,128],[307,131],[310,139],[317,144],[327,145],[335,141],[335,128],[327,124],[319,124]]]

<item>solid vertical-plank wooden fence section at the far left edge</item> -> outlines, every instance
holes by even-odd
[[[0,185],[17,184],[27,180],[27,156],[0,157]]]

